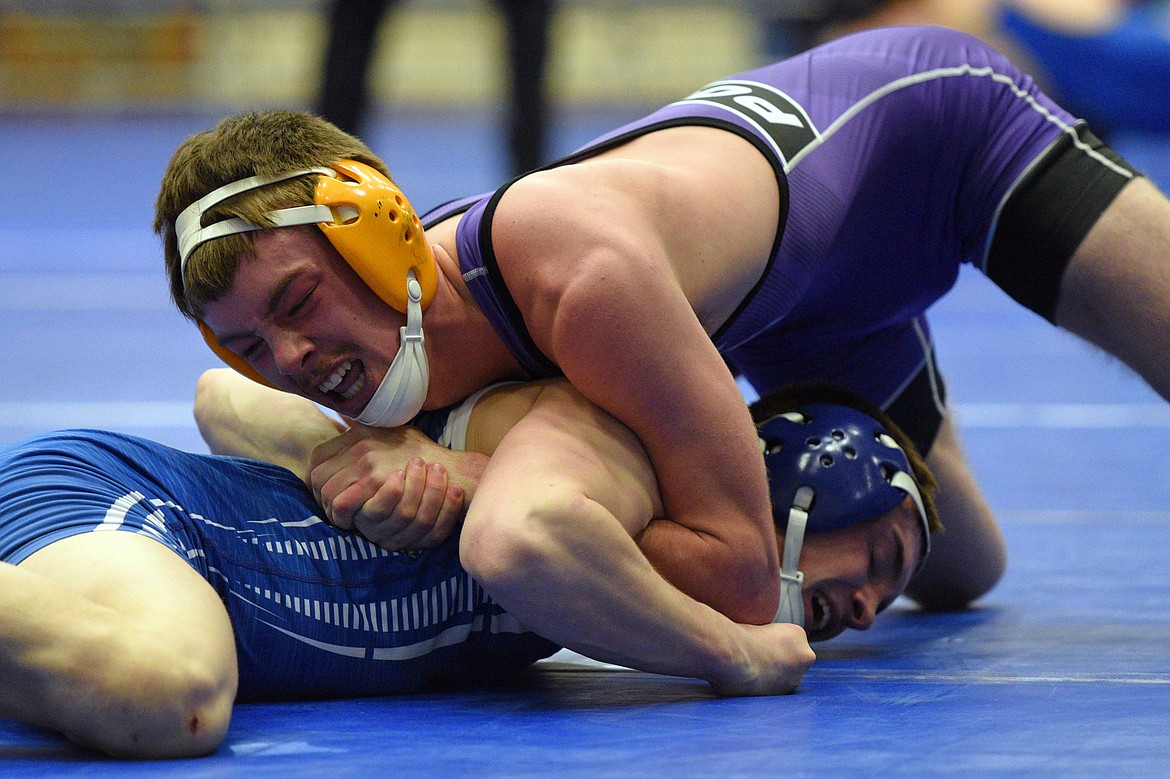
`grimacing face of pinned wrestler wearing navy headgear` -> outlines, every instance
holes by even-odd
[[[909,497],[875,519],[807,533],[800,570],[808,640],[826,641],[846,628],[868,629],[910,582],[923,540]],[[782,552],[783,544],[780,533]]]

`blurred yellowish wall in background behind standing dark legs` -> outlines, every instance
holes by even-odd
[[[321,0],[0,1],[0,110],[310,106]],[[445,108],[504,92],[503,29],[481,0],[407,0],[371,67],[374,103]],[[659,103],[760,61],[752,4],[576,0],[550,33],[558,105]]]

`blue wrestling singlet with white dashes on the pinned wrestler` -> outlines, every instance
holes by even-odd
[[[87,532],[164,544],[223,600],[241,699],[493,680],[557,650],[472,580],[457,533],[426,552],[393,553],[319,517],[304,484],[268,463],[97,430],[0,450],[0,559],[19,564]]]

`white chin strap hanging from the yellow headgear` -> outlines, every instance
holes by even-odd
[[[422,340],[422,288],[410,271],[406,282],[406,325],[398,329],[398,354],[378,389],[357,420],[372,427],[398,427],[422,409],[431,384],[427,350]]]

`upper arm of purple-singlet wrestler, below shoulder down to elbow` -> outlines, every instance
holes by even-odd
[[[770,535],[746,404],[681,289],[654,263],[603,275],[607,284],[566,290],[552,323],[565,375],[641,439],[672,519],[713,533],[742,521]]]

